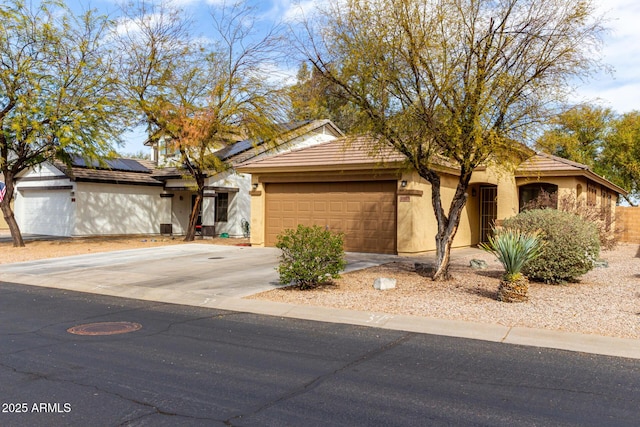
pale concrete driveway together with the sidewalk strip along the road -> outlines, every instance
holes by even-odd
[[[477,249],[456,249],[452,259]],[[275,248],[190,244],[0,266],[0,281],[217,308],[640,359],[640,340],[501,325],[301,306],[242,297],[280,286]],[[395,255],[347,254],[347,271]],[[415,260],[424,261],[425,257]]]

